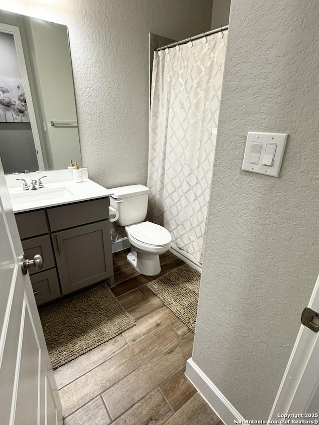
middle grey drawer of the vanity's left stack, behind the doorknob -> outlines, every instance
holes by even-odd
[[[35,254],[40,254],[43,260],[42,271],[55,267],[52,251],[51,239],[49,235],[38,236],[37,238],[25,239],[22,241],[25,258],[33,258]],[[33,266],[29,269],[29,274],[37,273]]]

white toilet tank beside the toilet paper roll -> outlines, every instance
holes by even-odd
[[[110,196],[110,205],[119,212],[120,226],[129,226],[145,220],[150,192],[148,187],[134,184],[110,190],[114,193]]]

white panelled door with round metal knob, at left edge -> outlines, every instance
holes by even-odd
[[[0,161],[0,423],[62,425],[62,409]]]

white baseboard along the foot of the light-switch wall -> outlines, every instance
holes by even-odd
[[[192,358],[186,362],[185,375],[225,425],[245,424],[246,421],[241,414],[193,362]]]

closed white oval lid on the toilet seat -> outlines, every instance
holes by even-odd
[[[134,239],[148,245],[162,247],[171,242],[168,230],[150,221],[130,226],[130,233]]]

